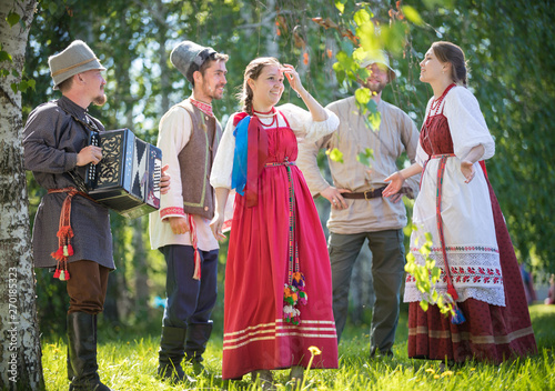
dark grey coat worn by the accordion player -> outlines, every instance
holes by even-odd
[[[87,110],[62,97],[37,107],[27,120],[23,130],[24,166],[32,171],[37,182],[44,189],[75,187],[70,171],[84,178],[85,168],[77,167],[77,154],[87,147],[91,121],[100,131],[104,127],[87,113]],[[34,265],[56,267],[51,253],[58,250],[57,232],[65,193],[46,194],[34,218],[32,245]],[[74,254],[69,262],[94,261],[114,269],[112,234],[108,209],[84,197],[75,196],[71,202],[71,239]]]

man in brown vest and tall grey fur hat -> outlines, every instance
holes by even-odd
[[[219,244],[210,229],[214,191],[210,171],[222,130],[212,111],[226,83],[226,54],[191,41],[179,43],[170,60],[192,86],[192,94],[160,120],[158,147],[170,166],[172,188],[150,214],[152,249],[165,258],[168,302],[162,320],[158,374],[171,381],[194,381],[212,332],[216,301]]]

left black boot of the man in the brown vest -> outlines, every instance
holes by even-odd
[[[160,339],[158,375],[172,382],[194,383],[196,380],[183,372],[181,361],[185,355],[186,329],[162,327]]]

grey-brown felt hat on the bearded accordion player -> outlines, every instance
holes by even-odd
[[[51,56],[48,59],[50,74],[54,81],[54,90],[58,86],[71,78],[74,74],[99,69],[105,71],[105,68],[100,64],[99,59],[94,56],[91,48],[83,41],[73,41],[62,52]]]

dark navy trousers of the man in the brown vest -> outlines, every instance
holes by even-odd
[[[168,264],[168,303],[162,325],[186,329],[189,324],[209,323],[218,295],[218,250],[199,250],[202,264],[200,280],[193,279],[192,245],[170,244],[160,251]]]

